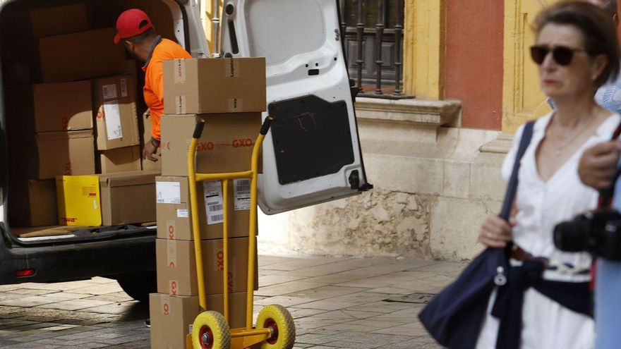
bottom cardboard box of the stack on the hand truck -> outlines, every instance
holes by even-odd
[[[207,295],[207,310],[220,314],[223,310],[223,295]],[[151,348],[186,348],[186,334],[199,314],[198,296],[184,297],[151,293],[149,312],[151,319]],[[246,326],[246,292],[229,294],[229,327],[239,329]]]

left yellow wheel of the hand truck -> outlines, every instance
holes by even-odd
[[[202,312],[192,326],[194,349],[229,349],[231,333],[229,325],[219,312]]]

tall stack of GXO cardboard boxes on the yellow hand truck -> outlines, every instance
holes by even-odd
[[[162,176],[157,177],[157,294],[150,297],[151,347],[185,348],[198,315],[188,145],[205,121],[196,152],[198,173],[248,171],[265,102],[265,59],[164,61]],[[222,181],[198,183],[200,244],[207,307],[222,312]],[[246,324],[250,180],[229,181],[229,326]],[[256,224],[256,222],[253,222]],[[252,251],[256,258],[256,251]],[[254,285],[258,287],[257,271]],[[167,346],[168,345],[168,346]]]

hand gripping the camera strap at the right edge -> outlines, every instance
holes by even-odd
[[[582,183],[597,190],[610,187],[620,152],[619,140],[601,142],[586,149],[578,164],[578,176]]]

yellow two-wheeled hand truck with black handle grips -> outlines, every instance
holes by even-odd
[[[188,149],[188,174],[190,183],[190,202],[192,215],[192,230],[194,236],[194,250],[196,255],[196,273],[198,277],[198,298],[200,314],[194,320],[192,333],[186,337],[186,346],[193,349],[291,349],[296,339],[296,327],[293,317],[287,308],[281,305],[267,305],[259,312],[257,324],[253,326],[253,299],[255,281],[255,249],[256,249],[256,222],[257,222],[257,175],[258,159],[263,138],[270,130],[272,117],[267,116],[253,147],[250,171],[231,173],[195,173],[195,152],[200,135],[203,133],[205,121],[199,119],[194,129],[194,135]],[[246,327],[240,329],[229,328],[229,250],[228,224],[229,216],[229,180],[239,178],[251,179],[250,224],[248,226],[248,290],[246,299]],[[200,246],[200,224],[198,221],[198,195],[196,184],[205,180],[222,180],[222,195],[224,197],[224,222],[222,232],[222,249],[224,255],[223,295],[224,316],[219,312],[207,311],[207,292],[203,278],[203,251]]]

